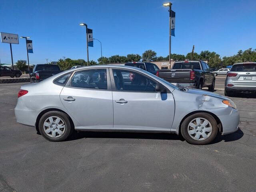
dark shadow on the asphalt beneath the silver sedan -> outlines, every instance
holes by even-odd
[[[219,143],[220,141],[236,141],[244,135],[241,129],[228,135],[217,134],[214,141],[210,144]],[[162,139],[162,140],[180,140],[185,141],[181,135],[170,133],[128,133],[128,132],[98,132],[98,131],[74,131],[66,141],[73,141],[84,138],[119,138],[119,139]]]

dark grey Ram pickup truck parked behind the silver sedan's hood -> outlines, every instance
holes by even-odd
[[[159,70],[157,76],[177,85],[214,90],[215,76],[204,61],[176,61],[172,69]]]

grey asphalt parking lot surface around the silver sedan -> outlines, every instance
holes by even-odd
[[[224,80],[216,77],[216,93],[224,95]],[[255,95],[232,98],[240,129],[210,145],[174,134],[103,132],[49,142],[16,123],[22,84],[0,84],[0,191],[255,190]]]

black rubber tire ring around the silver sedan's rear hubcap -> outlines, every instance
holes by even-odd
[[[46,132],[44,131],[44,121],[51,117],[51,116],[56,116],[59,117],[63,120],[64,124],[65,124],[65,131],[63,133],[63,135],[61,135],[60,137],[50,137],[49,135],[46,134]],[[70,118],[67,114],[63,113],[63,112],[59,112],[59,111],[51,111],[51,112],[46,112],[39,121],[39,131],[41,133],[41,135],[43,135],[43,137],[45,139],[47,139],[48,141],[64,141],[65,139],[67,139],[73,132],[73,127],[71,126],[70,123]]]

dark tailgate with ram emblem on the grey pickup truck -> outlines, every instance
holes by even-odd
[[[193,82],[190,80],[191,69],[167,69],[159,70],[158,76],[168,82]]]

